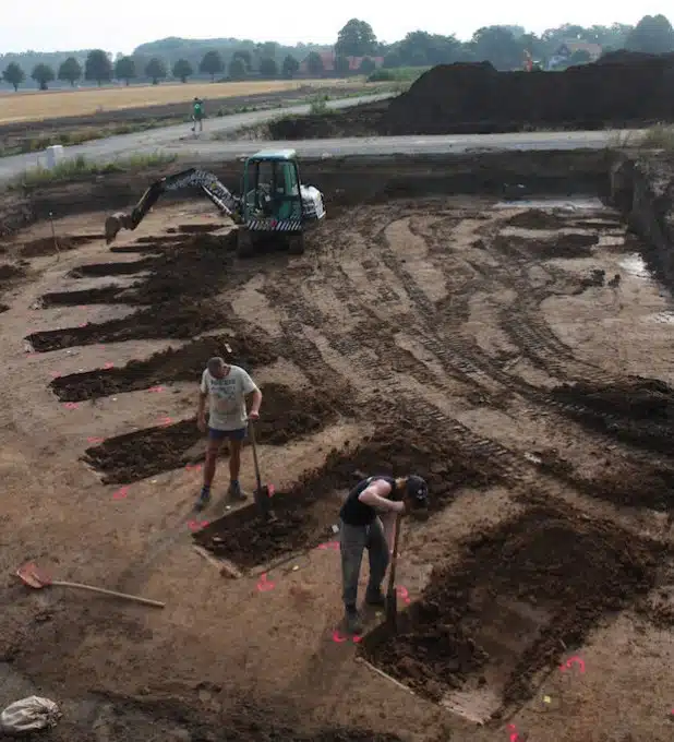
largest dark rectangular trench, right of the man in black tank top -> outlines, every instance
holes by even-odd
[[[464,544],[419,601],[361,643],[374,667],[484,722],[535,692],[534,678],[606,613],[651,589],[664,549],[566,507],[535,506]]]

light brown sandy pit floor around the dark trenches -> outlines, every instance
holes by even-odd
[[[253,363],[263,393],[265,386],[285,385],[297,393],[301,409],[312,394],[349,390],[339,392],[330,403],[336,414],[326,412],[312,433],[293,428],[284,445],[261,446],[264,476],[279,490],[291,490],[303,475],[310,487],[311,472],[324,466],[330,450],[368,445],[386,424],[413,441],[421,451],[414,460],[431,471],[446,464],[449,477],[459,462],[484,460],[484,470],[497,464],[497,483],[480,486],[474,470],[428,522],[406,526],[398,576],[402,608],[407,599],[412,606],[423,601],[432,567],[445,574],[458,570],[461,539],[514,523],[541,502],[573,512],[574,528],[583,518],[605,520],[622,543],[643,542],[655,551],[671,544],[669,508],[640,490],[647,474],[671,471],[669,453],[651,445],[658,431],[641,431],[646,443],[625,441],[614,429],[598,430],[587,407],[574,411],[551,392],[564,382],[622,388],[627,374],[673,383],[670,296],[649,276],[640,246],[616,214],[598,204],[557,210],[554,218],[553,210],[545,214],[478,199],[362,206],[329,219],[301,258],[258,256],[244,265],[231,259],[222,285],[201,307],[205,315],[222,310],[221,327],[233,336],[276,350],[277,360]],[[64,219],[57,229],[61,236],[96,234],[101,223],[103,215],[95,214]],[[220,226],[201,204],[171,206],[157,210],[117,246],[143,249],[134,240],[165,238],[177,224],[205,224],[214,231]],[[24,246],[48,235],[44,225],[20,234],[7,246],[7,262],[15,263]],[[579,247],[567,235],[589,239]],[[167,246],[159,243],[157,254]],[[74,407],[57,399],[50,382],[110,363],[120,368],[190,338],[157,332],[81,345],[75,337],[48,352],[26,352],[24,338],[120,318],[128,318],[132,331],[141,326],[131,314],[139,307],[127,303],[39,303],[49,292],[110,284],[106,277],[69,276],[77,266],[139,258],[143,254],[111,255],[94,239],[60,256],[32,258],[24,265],[27,275],[5,284],[0,705],[28,691],[60,701],[65,716],[50,732],[53,740],[264,740],[273,739],[277,725],[294,730],[297,737],[286,732],[284,739],[364,740],[377,733],[476,742],[671,739],[674,643],[663,619],[672,595],[666,551],[657,552],[648,594],[622,596],[619,611],[598,603],[582,631],[559,635],[562,644],[545,656],[535,655],[542,646],[537,632],[554,634],[546,621],[564,613],[553,610],[550,597],[535,609],[508,597],[513,618],[498,623],[492,617],[493,625],[480,629],[480,636],[491,631],[493,643],[484,682],[476,686],[466,671],[465,682],[441,687],[437,704],[423,683],[411,695],[356,657],[359,643],[340,626],[339,555],[333,547],[309,539],[308,550],[286,554],[289,561],[276,567],[257,554],[256,567],[243,578],[226,579],[192,549],[192,531],[225,512],[219,503],[200,516],[192,512],[198,464],[185,466],[177,450],[165,470],[130,476],[129,483],[101,483],[100,472],[81,460],[84,451],[99,439],[161,430],[168,417],[170,424],[189,420],[196,378],[156,378],[145,388],[93,394]],[[595,271],[604,274],[590,285]],[[610,285],[616,274],[619,282]],[[128,286],[139,278],[113,280]],[[196,270],[177,278],[185,296],[188,284],[200,279]],[[155,306],[157,325],[172,307]],[[163,391],[152,393],[157,385]],[[623,422],[615,422],[618,433]],[[154,448],[144,458],[145,439],[139,441],[143,463]],[[424,459],[419,441],[429,451],[436,446],[444,458]],[[218,490],[226,487],[225,465]],[[249,447],[242,480],[250,491]],[[624,491],[633,490],[628,504],[639,506],[624,506]],[[344,491],[326,491],[335,507],[316,511],[314,535],[324,532],[324,542],[335,540],[329,525],[337,522],[338,499],[329,498]],[[667,491],[659,490],[665,501]],[[601,561],[607,541],[592,543],[597,553],[588,570],[594,558]],[[55,577],[142,594],[166,601],[166,608],[59,587],[32,593],[11,575],[28,559]],[[494,570],[508,559],[504,551]],[[549,567],[551,579],[555,569]],[[592,603],[592,596],[583,600]],[[580,615],[583,606],[570,602],[565,610]],[[521,629],[517,621],[525,614]],[[376,624],[371,615],[369,627]],[[531,646],[533,655],[526,655]],[[513,666],[498,665],[502,658]],[[529,697],[504,703],[520,670]],[[344,737],[326,731],[341,725],[360,731]],[[310,730],[305,738],[303,729]]]

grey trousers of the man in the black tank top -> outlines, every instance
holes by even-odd
[[[370,559],[369,595],[378,594],[386,574],[388,542],[382,519],[377,517],[369,526],[350,526],[341,520],[339,549],[341,552],[342,600],[346,608],[352,609],[356,608],[358,577],[364,549],[368,549]]]

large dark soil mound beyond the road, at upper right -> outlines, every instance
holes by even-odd
[[[387,134],[564,127],[600,129],[674,119],[674,55],[614,55],[565,72],[497,72],[489,62],[441,64],[384,115]]]

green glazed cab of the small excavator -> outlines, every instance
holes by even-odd
[[[294,149],[263,149],[245,160],[242,222],[253,231],[299,231],[300,169]]]

